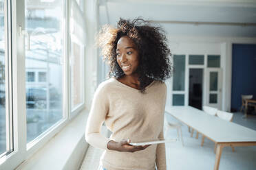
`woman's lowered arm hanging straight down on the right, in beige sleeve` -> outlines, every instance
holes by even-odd
[[[159,139],[164,139],[163,130],[160,132]],[[167,163],[166,163],[166,156],[165,156],[165,143],[158,144],[156,147],[156,167],[158,170],[166,170]]]

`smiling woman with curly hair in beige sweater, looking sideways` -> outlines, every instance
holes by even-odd
[[[165,145],[132,146],[131,142],[163,139],[164,107],[171,76],[170,50],[160,27],[142,19],[120,19],[118,27],[105,26],[98,34],[109,75],[92,101],[86,141],[105,149],[101,169],[165,170]],[[105,122],[110,138],[100,134]]]

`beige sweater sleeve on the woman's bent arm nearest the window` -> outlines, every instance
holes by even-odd
[[[105,121],[108,110],[109,104],[107,95],[104,93],[104,86],[100,84],[94,93],[92,107],[89,111],[89,117],[87,119],[85,130],[85,140],[93,147],[106,150],[109,150],[107,148],[107,143],[111,141],[111,139],[106,138],[103,136],[103,134],[100,134],[100,129],[103,125],[103,122]]]

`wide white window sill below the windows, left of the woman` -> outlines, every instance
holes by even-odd
[[[85,141],[85,124],[88,111],[82,110],[61,132],[39,151],[17,167],[25,169],[78,169],[88,144]]]

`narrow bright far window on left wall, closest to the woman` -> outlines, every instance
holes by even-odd
[[[84,104],[84,56],[85,56],[85,29],[81,4],[83,1],[70,3],[70,102],[72,112]],[[78,4],[77,4],[78,3]],[[80,5],[79,5],[80,4]],[[83,5],[82,5],[83,6]]]

